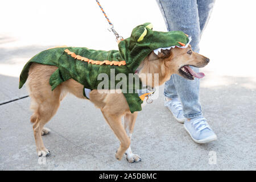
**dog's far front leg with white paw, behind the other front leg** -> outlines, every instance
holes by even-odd
[[[135,112],[133,114],[126,114],[123,117],[124,118],[123,127],[125,128],[126,134],[130,139],[131,139],[131,134],[133,133],[137,115],[138,115],[138,112]],[[129,148],[126,150],[125,155],[129,163],[141,161],[140,156],[133,154],[133,152],[131,151],[131,146],[129,146]]]

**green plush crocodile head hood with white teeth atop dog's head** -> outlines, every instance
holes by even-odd
[[[156,55],[161,52],[161,49],[171,49],[175,47],[187,48],[191,38],[181,31],[159,32],[152,30],[151,23],[144,23],[133,29],[130,38],[121,41],[118,44],[119,52],[123,59],[126,60],[126,65],[131,71],[135,70],[141,64],[141,61],[149,55],[152,51]],[[195,73],[188,65],[185,65],[189,72],[192,72],[192,76],[197,78],[204,77],[204,73]],[[182,68],[184,69],[184,68]],[[179,69],[179,75],[185,77],[181,68]],[[185,77],[189,80],[193,80],[193,77]]]

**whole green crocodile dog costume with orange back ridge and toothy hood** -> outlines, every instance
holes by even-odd
[[[82,47],[60,47],[47,49],[32,57],[31,60],[24,66],[20,73],[19,88],[22,88],[28,77],[28,70],[32,63],[44,65],[54,65],[58,69],[52,73],[49,78],[49,84],[52,90],[61,82],[67,81],[70,78],[84,85],[86,89],[97,89],[102,80],[98,80],[100,73],[105,73],[109,77],[109,87],[117,85],[119,80],[110,81],[110,73],[114,69],[114,74],[124,73],[127,78],[129,73],[135,73],[136,69],[141,64],[142,60],[160,48],[170,49],[170,47],[187,47],[191,39],[181,31],[159,32],[152,30],[151,23],[144,23],[133,29],[130,38],[124,39],[118,44],[118,50],[112,51],[96,51],[93,49]],[[136,74],[135,74],[136,75]],[[129,104],[130,111],[141,110],[142,100],[138,96],[136,86],[133,85],[133,93],[130,93],[129,86],[122,92]],[[141,83],[139,84],[141,88]],[[125,92],[126,91],[126,92]],[[84,96],[86,94],[84,92]]]

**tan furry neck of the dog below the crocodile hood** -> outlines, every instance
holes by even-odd
[[[164,61],[161,59],[148,60],[147,56],[139,65],[137,73],[143,85],[155,88],[156,86],[164,84],[170,79],[172,73],[167,70]],[[157,78],[157,77],[158,78]]]

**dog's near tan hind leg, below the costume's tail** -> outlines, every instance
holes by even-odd
[[[39,156],[47,156],[49,150],[44,146],[42,134],[48,133],[44,125],[53,117],[60,105],[61,85],[51,91],[49,77],[56,67],[32,64],[28,73],[28,89],[31,97],[31,116],[33,123],[36,151]]]

